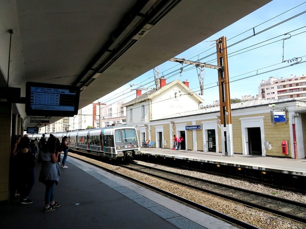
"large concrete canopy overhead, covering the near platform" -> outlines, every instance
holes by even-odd
[[[76,85],[82,108],[268,2],[1,1],[0,85],[21,97],[28,81]]]

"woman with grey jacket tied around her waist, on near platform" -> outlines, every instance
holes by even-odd
[[[56,164],[58,160],[58,150],[56,149],[56,138],[50,136],[47,141],[47,152],[41,151],[40,159],[43,162],[40,173],[39,182],[46,185],[45,192],[45,208],[44,212],[50,212],[59,207],[60,204],[54,201],[53,186],[57,185],[61,171]]]

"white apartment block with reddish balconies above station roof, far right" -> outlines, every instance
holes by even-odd
[[[263,99],[306,98],[306,76],[274,78],[262,80],[258,87],[259,97]]]

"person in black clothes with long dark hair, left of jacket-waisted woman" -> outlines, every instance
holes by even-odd
[[[35,156],[29,151],[30,139],[22,137],[17,145],[17,164],[20,171],[21,180],[21,204],[31,204],[33,200],[29,199],[29,194],[34,185],[34,167]]]

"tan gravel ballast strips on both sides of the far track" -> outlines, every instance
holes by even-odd
[[[91,163],[95,163],[107,169],[114,170],[118,173],[122,173],[134,179],[141,180],[147,184],[154,185],[155,187],[169,191],[171,193],[174,193],[176,195],[179,195],[191,201],[197,202],[201,205],[207,206],[211,209],[214,209],[224,214],[227,214],[229,216],[235,217],[239,220],[243,220],[259,228],[263,228],[263,229],[274,229],[274,228],[275,229],[278,229],[278,228],[303,229],[303,228],[306,228],[306,225],[298,224],[291,220],[286,220],[281,217],[270,215],[268,213],[259,211],[257,209],[248,208],[244,205],[234,203],[234,202],[231,202],[231,201],[228,201],[228,200],[225,200],[225,199],[213,196],[213,195],[205,194],[203,192],[196,191],[190,188],[186,188],[181,185],[166,182],[164,180],[160,180],[152,176],[134,172],[129,169],[124,169],[116,165],[110,165],[110,164],[100,162],[100,161],[97,161],[91,158],[86,158],[84,156],[80,156],[77,154],[69,153],[69,155],[86,160]],[[252,191],[258,191],[258,192],[262,192],[265,194],[270,194],[270,195],[274,194],[278,197],[288,198],[291,200],[306,203],[306,196],[303,194],[297,194],[297,193],[290,192],[290,191],[270,188],[270,187],[267,187],[261,184],[253,184],[248,181],[242,181],[242,180],[233,179],[233,178],[226,178],[226,177],[211,175],[207,173],[200,173],[200,172],[195,172],[195,171],[187,170],[187,169],[177,169],[177,168],[173,168],[170,166],[157,165],[157,164],[141,162],[141,161],[135,161],[135,162],[141,165],[147,165],[150,167],[163,169],[166,171],[181,173],[181,174],[185,174],[188,176],[194,176],[194,177],[198,177],[198,178],[202,178],[206,180],[212,180],[214,182],[219,182],[222,184],[245,188],[245,189],[249,189]]]

